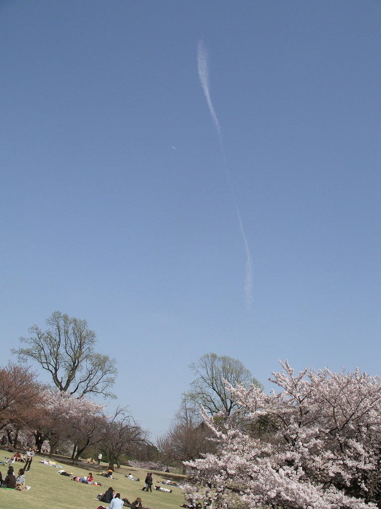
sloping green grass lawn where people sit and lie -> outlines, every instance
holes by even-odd
[[[3,457],[0,457],[0,459],[4,461]],[[152,493],[141,491],[147,470],[121,467],[113,473],[116,479],[107,479],[95,475],[97,470],[91,470],[90,465],[79,467],[61,464],[66,472],[73,472],[77,476],[86,476],[88,472],[92,472],[94,480],[102,483],[101,488],[100,486],[76,483],[71,477],[58,475],[57,471],[60,469],[39,463],[43,460],[43,457],[35,456],[29,472],[25,472],[25,484],[30,486],[29,491],[0,489],[0,507],[9,509],[25,509],[26,507],[28,509],[96,509],[99,505],[108,507],[108,504],[99,502],[95,498],[98,493],[104,493],[110,486],[115,490],[115,493],[120,493],[121,498],[126,497],[130,502],[133,502],[136,497],[141,497],[143,507],[150,507],[151,509],[174,509],[184,503],[183,491],[176,487],[169,487],[172,489],[172,493],[157,491],[153,487]],[[53,458],[53,461],[56,460]],[[103,465],[107,469],[105,464]],[[23,463],[14,463],[15,473],[22,466]],[[7,466],[0,466],[3,477],[6,476],[7,469]],[[130,472],[134,477],[140,478],[139,483],[124,477]],[[151,472],[153,484],[168,478],[164,472],[156,473],[152,470]]]

